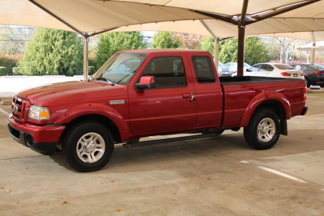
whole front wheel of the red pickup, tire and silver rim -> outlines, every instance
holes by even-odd
[[[99,170],[112,157],[112,136],[100,123],[80,123],[72,126],[65,134],[63,153],[66,161],[77,171]]]

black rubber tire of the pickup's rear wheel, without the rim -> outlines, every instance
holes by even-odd
[[[268,133],[274,133],[269,141],[262,141],[258,135],[258,126],[265,120],[271,119],[275,124],[275,130],[268,130]],[[261,135],[263,136],[263,135]],[[269,109],[260,109],[252,116],[250,123],[244,128],[244,138],[248,145],[253,149],[266,150],[272,148],[280,137],[280,120],[278,115]],[[263,136],[262,138],[266,138]]]

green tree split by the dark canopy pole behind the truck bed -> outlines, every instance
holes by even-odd
[[[237,39],[229,39],[220,45],[219,59],[221,62],[237,61]],[[266,44],[258,37],[245,39],[245,62],[250,65],[267,62],[270,56]]]

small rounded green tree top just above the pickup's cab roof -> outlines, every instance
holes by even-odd
[[[153,49],[172,49],[180,47],[182,47],[180,39],[173,36],[171,32],[166,31],[156,32],[151,43],[151,48]]]

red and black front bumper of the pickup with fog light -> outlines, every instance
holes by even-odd
[[[44,155],[55,153],[57,142],[65,126],[39,126],[20,123],[9,118],[8,130],[12,138],[22,145]]]

